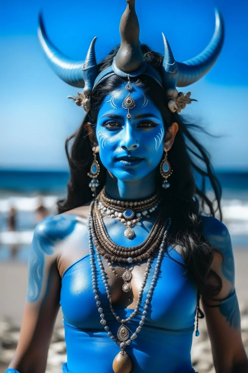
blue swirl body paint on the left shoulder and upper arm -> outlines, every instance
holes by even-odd
[[[37,301],[41,295],[45,257],[52,255],[55,244],[74,231],[76,222],[75,217],[57,215],[42,220],[36,226],[28,260],[27,299],[29,302]]]

